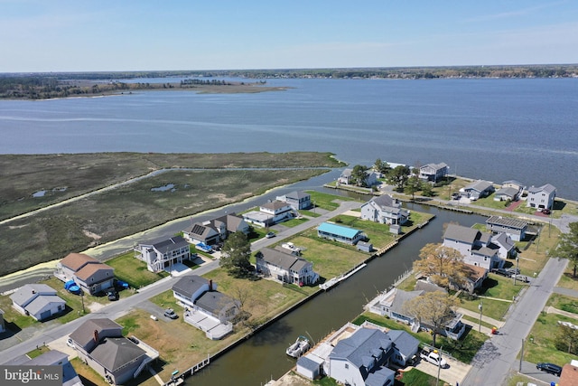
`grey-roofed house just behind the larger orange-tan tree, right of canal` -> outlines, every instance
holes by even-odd
[[[463,262],[486,269],[502,268],[499,247],[491,242],[491,234],[461,225],[449,224],[443,233],[443,246],[458,249]]]

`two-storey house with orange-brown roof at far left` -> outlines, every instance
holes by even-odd
[[[114,287],[114,268],[84,253],[70,253],[56,265],[54,276],[74,282],[90,295]]]

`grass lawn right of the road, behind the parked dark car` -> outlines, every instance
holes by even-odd
[[[538,315],[536,323],[526,340],[524,360],[532,363],[553,362],[562,366],[564,363],[569,363],[571,360],[576,359],[575,355],[559,351],[555,347],[558,321],[578,325],[576,319],[564,315],[545,314],[544,312]]]

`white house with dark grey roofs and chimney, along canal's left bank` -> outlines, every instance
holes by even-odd
[[[217,291],[212,280],[197,275],[180,278],[172,286],[172,295],[186,309],[185,322],[209,333],[211,338],[220,339],[232,331],[230,321],[240,312],[238,300]],[[210,331],[216,327],[219,328]]]

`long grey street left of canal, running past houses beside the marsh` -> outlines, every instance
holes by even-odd
[[[341,202],[340,207],[335,211],[324,212],[320,217],[312,218],[310,221],[305,221],[303,224],[299,224],[293,228],[286,228],[284,231],[278,233],[277,237],[274,239],[257,240],[253,243],[251,249],[256,250],[267,247],[282,238],[292,236],[300,231],[317,226],[322,221],[331,219],[331,217],[335,217],[343,212],[350,211],[351,209],[359,208],[360,205],[360,202]],[[204,275],[218,267],[219,260],[213,260],[202,264],[199,268],[196,268],[194,272],[191,272],[191,274]],[[169,290],[176,279],[177,278],[172,277],[163,278],[151,286],[141,288],[138,293],[131,297],[121,298],[117,302],[110,303],[99,309],[97,312],[80,317],[66,325],[53,323],[49,326],[43,326],[45,328],[42,329],[25,329],[19,334],[0,340],[0,363],[7,362],[17,355],[22,355],[32,351],[39,345],[49,344],[52,341],[60,339],[62,336],[72,333],[79,327],[79,325],[89,318],[107,317],[115,320],[128,314],[133,308],[139,307],[141,304],[143,304],[145,309],[148,309],[150,307],[148,299]],[[24,339],[26,340],[21,342],[22,338],[20,338],[20,336],[25,337]]]

